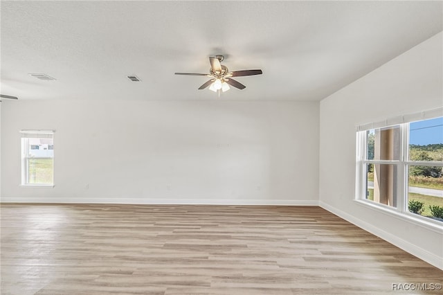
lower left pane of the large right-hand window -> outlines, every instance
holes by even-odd
[[[366,165],[366,199],[397,207],[397,166]]]

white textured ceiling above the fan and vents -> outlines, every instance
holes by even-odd
[[[443,30],[442,1],[1,1],[1,93],[19,99],[321,100]],[[42,81],[29,73],[46,73]],[[135,74],[142,82],[130,82]]]

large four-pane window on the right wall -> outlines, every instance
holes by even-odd
[[[443,116],[439,110],[436,118],[402,116],[392,121],[406,118],[407,122],[388,125],[385,120],[359,127],[356,199],[443,222]]]

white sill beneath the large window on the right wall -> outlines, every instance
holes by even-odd
[[[402,213],[396,211],[395,208],[388,208],[388,206],[375,204],[371,201],[363,199],[354,199],[354,202],[356,202],[356,204],[359,204],[361,206],[372,208],[376,211],[379,211],[391,217],[395,217],[401,221],[406,221],[409,222],[410,224],[422,226],[424,229],[435,231],[440,234],[442,233],[442,228],[443,228],[442,222],[433,220],[432,218],[415,216],[413,213]]]

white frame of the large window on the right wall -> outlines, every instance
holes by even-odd
[[[417,115],[419,114],[419,115]],[[442,222],[439,220],[433,220],[429,217],[424,217],[411,213],[408,210],[408,168],[410,166],[438,166],[443,167],[443,161],[410,161],[409,160],[409,123],[419,120],[427,120],[430,118],[438,118],[443,116],[443,108],[433,109],[426,112],[420,112],[417,114],[410,114],[407,116],[399,116],[390,120],[382,120],[376,123],[369,123],[360,125],[356,131],[356,190],[355,200],[365,206],[379,209],[385,213],[405,217],[408,220],[413,220],[426,227],[431,225],[435,229],[442,229]],[[437,116],[435,115],[437,114]],[[417,118],[419,116],[419,118]],[[409,120],[408,120],[409,119]],[[415,120],[414,120],[415,119]],[[400,121],[399,121],[400,120]],[[405,122],[406,120],[406,122]],[[395,124],[388,125],[388,122],[394,122]],[[403,122],[401,122],[403,121]],[[401,133],[401,147],[399,160],[368,160],[367,155],[367,135],[366,133],[370,129],[379,129],[384,127],[399,126]],[[367,171],[366,164],[390,164],[397,166],[397,206],[388,206],[386,204],[380,204],[373,202],[366,197],[367,192]],[[437,227],[435,227],[437,226]]]

